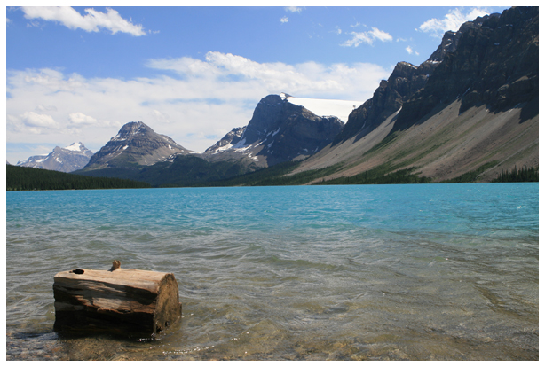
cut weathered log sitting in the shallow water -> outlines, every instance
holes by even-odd
[[[121,269],[73,269],[55,275],[57,332],[156,334],[181,316],[173,274]]]

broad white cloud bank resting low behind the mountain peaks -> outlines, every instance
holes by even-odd
[[[94,152],[122,124],[144,121],[187,149],[203,152],[231,129],[248,124],[259,100],[269,94],[365,101],[391,73],[366,63],[258,63],[221,52],[204,59],[150,59],[147,66],[160,75],[86,79],[51,69],[8,70],[7,141],[82,141]],[[8,160],[28,158],[28,152],[16,154]]]

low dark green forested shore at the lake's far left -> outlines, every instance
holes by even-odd
[[[113,177],[91,177],[6,165],[6,191],[136,189],[151,187],[149,183]]]

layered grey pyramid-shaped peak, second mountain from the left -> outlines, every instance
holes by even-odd
[[[189,151],[170,137],[154,132],[144,122],[129,122],[95,153],[85,169],[149,166]]]

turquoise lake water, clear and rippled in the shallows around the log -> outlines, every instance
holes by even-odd
[[[539,359],[538,183],[6,192],[7,360]],[[53,276],[174,273],[155,339],[53,332]]]

